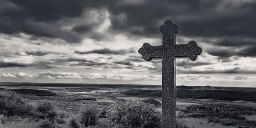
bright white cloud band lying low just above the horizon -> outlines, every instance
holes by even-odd
[[[120,73],[120,72],[119,72]],[[105,80],[120,80],[120,81],[161,81],[162,75],[131,75],[118,73],[1,73],[0,77],[10,78],[48,78],[48,79],[105,79]],[[213,75],[194,75],[194,74],[180,74],[176,76],[177,81],[183,82],[256,82],[256,76],[213,76]]]

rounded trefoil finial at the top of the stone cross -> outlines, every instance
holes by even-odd
[[[166,20],[164,24],[160,26],[159,30],[163,34],[178,34],[180,32],[180,28],[176,24],[172,23],[171,20]]]

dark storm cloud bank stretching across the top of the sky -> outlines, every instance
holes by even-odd
[[[136,35],[159,34],[159,26],[170,19],[180,26],[180,35],[221,37],[256,35],[256,2],[226,5],[221,0],[2,0],[1,32],[35,33],[39,36],[55,37],[47,32],[36,33],[29,28],[28,20],[51,23],[64,17],[82,15],[87,8],[106,8],[111,14],[111,28],[129,31]],[[230,2],[230,3],[229,3]],[[233,1],[236,3],[238,1]],[[239,5],[239,6],[237,6]],[[237,6],[237,7],[235,7]],[[225,15],[229,14],[229,15]],[[161,22],[159,22],[161,21]],[[38,24],[37,24],[38,26]],[[76,26],[76,32],[89,31],[88,26]]]

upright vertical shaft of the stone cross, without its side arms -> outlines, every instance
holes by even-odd
[[[162,127],[176,128],[176,58],[169,51],[175,50],[173,46],[176,45],[179,28],[174,24],[169,27],[160,26],[160,32],[163,33],[163,46],[167,48],[162,57]]]

